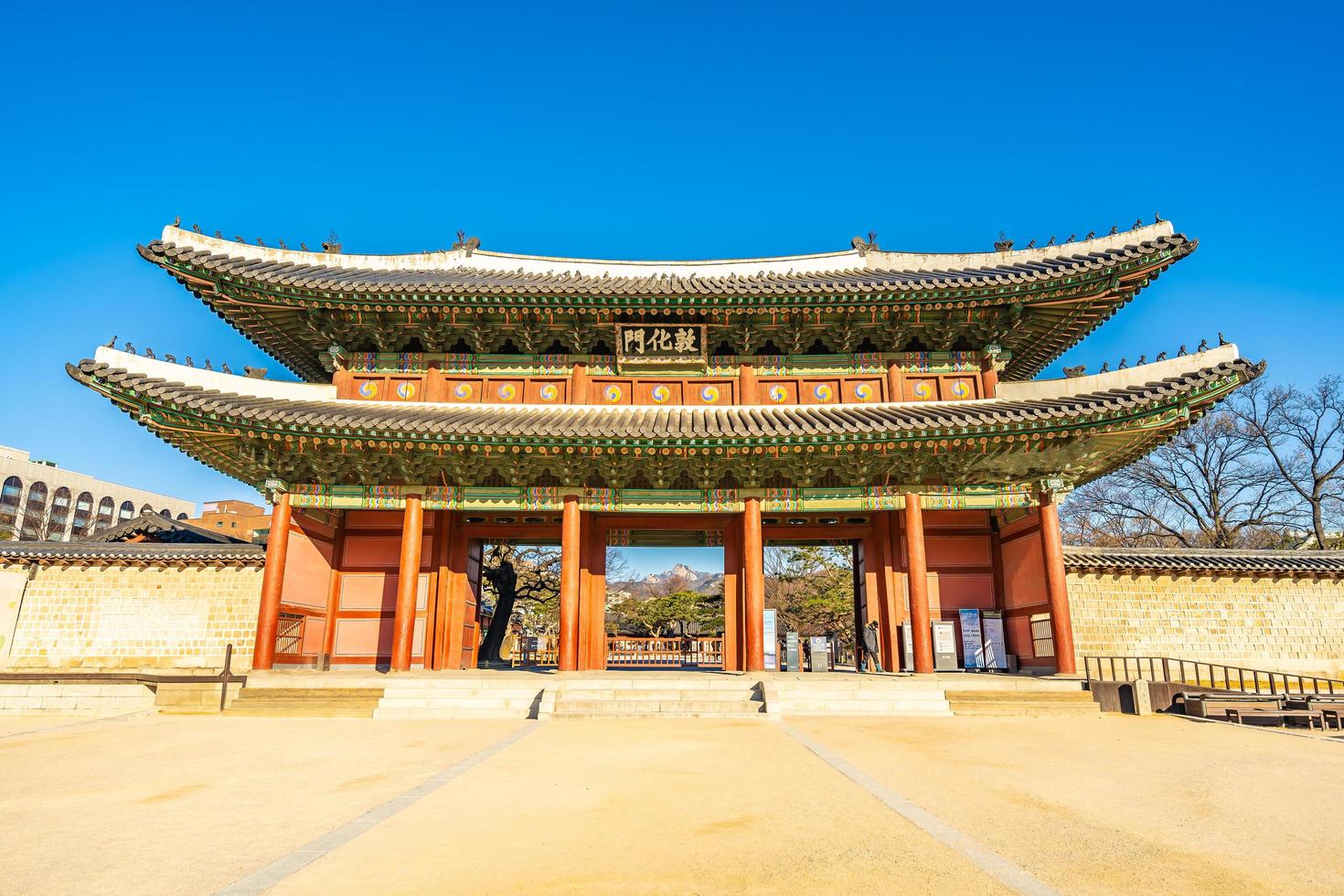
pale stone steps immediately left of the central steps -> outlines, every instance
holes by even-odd
[[[535,719],[552,676],[392,677],[375,719]]]

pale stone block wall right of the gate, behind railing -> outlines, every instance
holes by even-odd
[[[1156,656],[1344,677],[1344,579],[1068,572],[1085,656]]]

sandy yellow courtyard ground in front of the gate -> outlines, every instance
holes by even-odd
[[[1344,892],[1340,805],[1163,717],[8,720],[0,892]]]

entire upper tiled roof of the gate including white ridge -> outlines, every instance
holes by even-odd
[[[1042,283],[1193,243],[1169,224],[1040,250],[930,255],[829,253],[722,262],[610,262],[477,251],[339,255],[230,243],[169,228],[138,250],[156,265],[370,296],[812,296],[919,293]]]

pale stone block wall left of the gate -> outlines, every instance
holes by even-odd
[[[259,564],[0,564],[0,668],[219,669],[251,665]],[[12,604],[12,606],[11,606]]]

